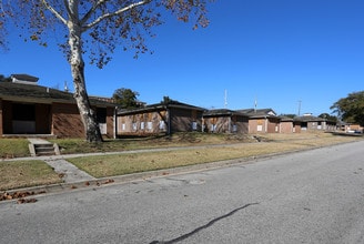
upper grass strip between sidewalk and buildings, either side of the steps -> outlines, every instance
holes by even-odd
[[[110,139],[92,144],[84,139],[48,139],[60,146],[62,154],[119,152],[138,149],[170,148],[199,144],[221,144],[226,142],[249,141],[251,136],[236,136],[206,133],[175,133],[172,136]],[[27,139],[0,139],[0,159],[30,156]]]

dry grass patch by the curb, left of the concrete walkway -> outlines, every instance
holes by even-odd
[[[42,161],[0,162],[0,190],[61,183],[53,169]]]

